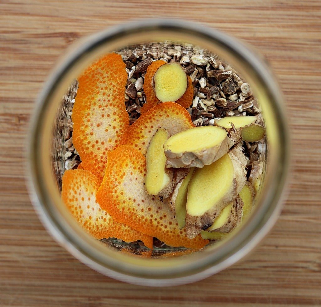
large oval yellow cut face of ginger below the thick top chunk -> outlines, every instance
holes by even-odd
[[[202,216],[230,191],[233,179],[234,168],[228,154],[196,169],[188,186],[187,213]]]

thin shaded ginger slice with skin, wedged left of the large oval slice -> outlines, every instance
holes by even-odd
[[[187,189],[194,171],[195,167],[190,169],[179,168],[177,170],[173,194],[169,200],[170,209],[175,215],[179,229],[185,227]]]

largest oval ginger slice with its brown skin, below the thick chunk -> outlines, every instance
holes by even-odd
[[[236,147],[211,165],[195,170],[188,185],[186,231],[189,238],[213,225],[246,181],[245,155]]]

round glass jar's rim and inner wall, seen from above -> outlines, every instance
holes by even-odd
[[[62,104],[61,97],[75,77],[97,57],[128,48],[146,50],[159,46],[180,46],[193,53],[219,55],[239,72],[251,85],[262,110],[267,152],[265,178],[255,209],[233,235],[197,252],[173,249],[178,252],[167,253],[167,257],[148,258],[141,251],[121,253],[112,241],[104,244],[94,240],[65,208],[60,196],[63,165],[59,157],[67,107]],[[51,235],[76,258],[100,273],[146,286],[190,283],[215,274],[244,257],[267,234],[281,212],[289,166],[289,135],[282,95],[265,61],[220,31],[171,20],[121,25],[71,48],[39,96],[29,138],[30,198]],[[65,104],[67,100],[63,100]]]

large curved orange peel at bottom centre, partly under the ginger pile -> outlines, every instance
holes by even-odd
[[[145,174],[146,159],[137,149],[122,145],[108,152],[108,166],[96,194],[101,208],[117,222],[126,223],[168,245],[204,247],[208,241],[200,235],[189,239],[185,229],[178,228],[168,201],[161,202],[146,193]]]

